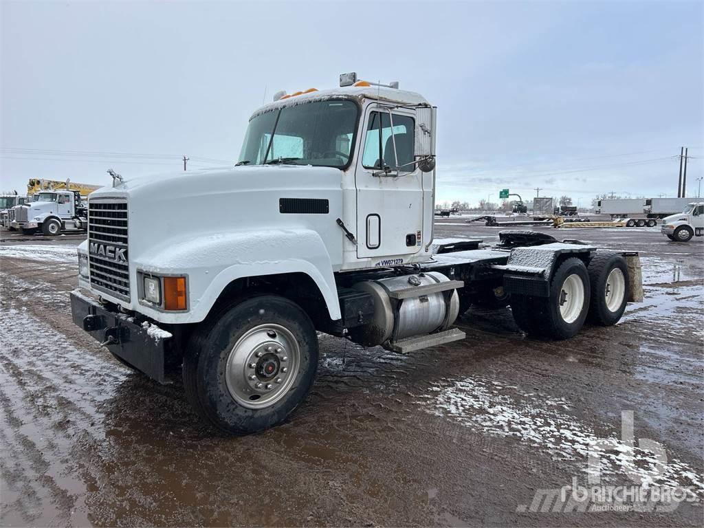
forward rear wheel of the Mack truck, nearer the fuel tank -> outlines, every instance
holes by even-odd
[[[567,258],[553,274],[548,297],[513,298],[520,329],[541,339],[569,339],[582,329],[589,312],[589,273],[579,258]]]

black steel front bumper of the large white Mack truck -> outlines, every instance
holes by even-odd
[[[115,356],[144,372],[159,383],[165,383],[166,332],[150,332],[125,315],[106,310],[96,301],[71,292],[73,322],[91,334]]]

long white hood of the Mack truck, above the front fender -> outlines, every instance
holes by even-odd
[[[189,170],[102,187],[89,197],[127,199],[130,264],[213,234],[296,227],[318,230],[342,214],[342,173],[310,165],[255,165]],[[287,214],[280,199],[327,200],[327,214]],[[321,225],[318,225],[321,224]],[[315,227],[314,227],[315,226]]]

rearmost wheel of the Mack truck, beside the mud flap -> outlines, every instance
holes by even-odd
[[[629,288],[626,260],[615,253],[595,253],[589,262],[589,320],[608,327],[621,319]]]

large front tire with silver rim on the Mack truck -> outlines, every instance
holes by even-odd
[[[259,296],[211,318],[189,340],[186,396],[196,413],[228,434],[284,421],[308,395],[318,369],[318,337],[301,308]]]

